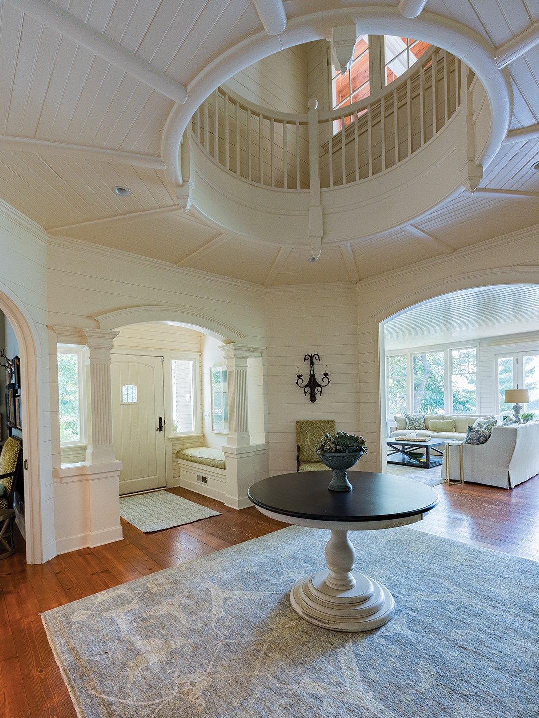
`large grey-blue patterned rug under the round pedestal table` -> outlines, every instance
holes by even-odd
[[[397,610],[337,633],[288,599],[328,535],[284,528],[46,612],[79,717],[538,715],[539,564],[413,528],[353,531]]]

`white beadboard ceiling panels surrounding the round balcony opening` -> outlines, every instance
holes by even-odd
[[[374,6],[372,0],[284,1],[289,25],[348,4],[354,11]],[[395,9],[399,2],[376,4]],[[0,199],[53,236],[282,286],[356,282],[442,256],[444,248],[458,251],[539,224],[538,197],[476,192],[455,197],[414,223],[431,243],[407,228],[393,229],[342,248],[324,248],[321,261],[310,263],[310,251],[299,241],[294,248],[280,248],[223,237],[178,207],[167,179],[162,139],[175,109],[172,95],[62,34],[54,22],[35,19],[40,7],[46,11],[51,5],[114,42],[116,50],[131,53],[180,93],[182,87],[195,94],[206,87],[206,73],[212,67],[218,71],[221,60],[263,27],[252,0],[1,0]],[[428,0],[425,12],[461,24],[494,47],[534,27],[537,32],[539,23],[538,0]],[[296,52],[295,62],[306,55]],[[538,123],[539,46],[511,62],[507,72],[511,127]],[[272,81],[278,88],[279,78]],[[56,148],[53,154],[14,139],[83,149],[63,154]],[[108,159],[92,149],[116,154]],[[139,162],[132,164],[122,152],[137,153]],[[506,144],[487,167],[481,187],[539,193],[539,172],[530,170],[538,161],[538,140]],[[129,187],[132,195],[117,197],[111,192],[116,185]]]

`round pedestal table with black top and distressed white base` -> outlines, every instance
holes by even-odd
[[[349,472],[351,491],[331,491],[331,471],[305,471],[262,479],[247,495],[266,516],[298,526],[331,529],[327,569],[300,579],[290,592],[296,612],[310,623],[365,631],[390,620],[395,601],[385,586],[354,571],[349,531],[393,528],[421,521],[438,503],[418,481],[369,471]]]

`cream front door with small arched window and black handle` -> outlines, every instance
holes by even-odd
[[[113,354],[111,385],[114,452],[124,465],[120,494],[164,487],[162,358]]]

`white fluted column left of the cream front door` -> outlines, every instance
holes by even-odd
[[[89,464],[106,464],[114,461],[112,444],[111,406],[111,349],[118,332],[95,329],[85,330],[86,376],[88,378],[88,449]]]

